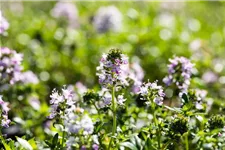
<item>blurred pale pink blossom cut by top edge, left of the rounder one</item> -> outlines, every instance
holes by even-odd
[[[51,10],[51,15],[55,18],[65,18],[71,28],[76,28],[79,26],[78,10],[72,2],[57,2],[55,7]]]

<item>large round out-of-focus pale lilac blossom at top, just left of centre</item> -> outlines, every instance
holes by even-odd
[[[122,26],[122,14],[115,6],[101,7],[94,17],[93,25],[100,33],[109,30],[119,31]]]

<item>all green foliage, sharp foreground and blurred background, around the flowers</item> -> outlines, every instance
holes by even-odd
[[[73,136],[74,149],[93,149],[94,144],[107,149],[111,138],[114,149],[124,150],[182,150],[188,146],[190,150],[224,149],[225,118],[219,115],[225,113],[224,2],[72,3],[79,12],[77,28],[69,27],[66,18],[51,16],[55,1],[1,1],[10,27],[1,35],[0,45],[22,53],[24,71],[33,71],[40,82],[2,86],[0,81],[0,95],[9,102],[8,116],[12,120],[9,130],[1,129],[0,148],[61,150],[66,148],[68,137]],[[95,30],[94,15],[107,5],[115,5],[121,11],[121,31]],[[158,80],[166,93],[162,106],[149,107],[145,102],[152,102],[157,91],[145,99],[131,93],[132,87],[116,89],[115,97],[123,94],[126,102],[115,112],[114,136],[112,108],[99,106],[103,97],[96,77],[101,54],[109,49],[107,59],[114,61],[122,52],[127,54],[131,65],[139,62],[144,69],[143,82]],[[185,56],[195,63],[190,89],[181,97],[175,87],[165,87],[162,82],[168,59],[173,56]],[[176,68],[179,69],[181,66]],[[89,90],[80,92],[78,81]],[[80,114],[84,108],[82,113],[92,119],[91,135],[65,133],[63,138],[67,129],[62,118],[47,118],[52,89],[65,84],[76,93],[76,104],[70,107],[76,107]],[[208,92],[200,103],[201,109],[196,108],[199,99],[195,89]],[[1,109],[0,112],[2,115]]]

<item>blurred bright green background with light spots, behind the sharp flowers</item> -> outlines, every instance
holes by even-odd
[[[77,24],[51,15],[56,1],[2,1],[10,23],[1,46],[24,54],[24,70],[40,79],[36,93],[47,100],[51,90],[81,81],[99,86],[96,66],[102,53],[120,48],[138,61],[145,79],[162,83],[168,59],[186,56],[196,64],[193,88],[225,98],[225,3],[223,1],[69,1]],[[120,31],[98,33],[93,18],[100,7],[114,5],[122,14]]]

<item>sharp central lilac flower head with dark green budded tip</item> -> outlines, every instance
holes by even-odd
[[[128,85],[127,74],[123,68],[128,66],[128,57],[118,49],[111,49],[108,54],[103,54],[100,66],[97,67],[99,83],[103,87],[108,85]]]

